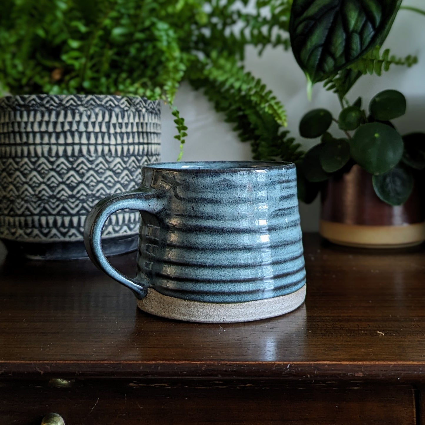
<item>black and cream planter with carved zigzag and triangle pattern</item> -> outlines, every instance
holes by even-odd
[[[0,99],[0,239],[29,258],[86,257],[84,221],[99,198],[131,190],[160,157],[160,104],[121,96]],[[137,246],[138,212],[103,232],[108,255]],[[119,241],[119,243],[118,243]]]

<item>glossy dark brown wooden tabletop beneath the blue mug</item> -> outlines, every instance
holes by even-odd
[[[425,370],[424,249],[348,249],[305,235],[307,299],[281,317],[197,324],[137,309],[90,261],[0,270],[0,370],[99,376],[376,377]],[[112,259],[135,273],[135,255]],[[40,372],[41,371],[41,372]],[[355,375],[357,376],[357,375]]]

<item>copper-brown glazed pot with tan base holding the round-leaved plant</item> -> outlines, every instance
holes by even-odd
[[[425,241],[425,204],[417,184],[404,205],[381,201],[372,176],[359,165],[329,179],[322,191],[320,234],[340,245],[412,246]]]

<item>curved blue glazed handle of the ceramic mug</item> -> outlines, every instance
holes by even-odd
[[[157,191],[139,187],[129,192],[110,195],[99,201],[90,211],[84,224],[84,245],[91,261],[112,279],[131,289],[137,299],[146,295],[150,284],[128,278],[108,261],[102,249],[102,229],[106,220],[119,210],[141,210],[152,214],[164,207],[164,199]]]

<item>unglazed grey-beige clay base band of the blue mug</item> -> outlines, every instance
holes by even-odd
[[[203,303],[181,298],[168,297],[152,288],[148,294],[137,301],[144,312],[166,317],[200,323],[249,322],[267,319],[289,313],[299,307],[305,299],[305,287],[296,292],[264,300],[245,303]]]

